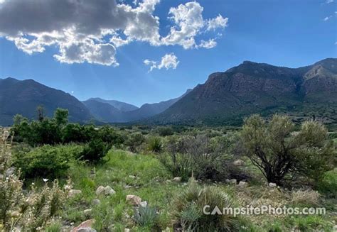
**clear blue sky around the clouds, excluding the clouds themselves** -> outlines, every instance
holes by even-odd
[[[21,38],[27,38],[31,42],[34,39],[33,33],[36,33],[33,30],[38,30],[41,35],[43,30],[50,30],[53,24],[41,24],[36,29],[29,28],[24,22],[22,28],[18,26],[13,29],[10,23],[15,22],[10,22],[11,18],[6,18],[7,14],[1,12],[1,4],[6,4],[6,0],[2,3],[0,0],[0,21],[8,21],[7,24],[0,22],[0,78],[35,79],[49,87],[72,93],[80,100],[98,96],[137,106],[163,101],[202,84],[210,73],[225,71],[244,60],[300,67],[326,57],[336,57],[337,5],[336,0],[330,1],[199,0],[197,2],[203,8],[205,26],[193,36],[196,40],[193,48],[185,49],[181,44],[169,45],[167,42],[154,45],[151,44],[154,43],[152,39],[139,41],[140,39],[134,38],[127,45],[113,44],[115,50],[109,55],[114,55],[115,60],[109,62],[114,63],[102,65],[97,63],[102,57],[94,57],[93,61],[85,58],[87,60],[74,62],[77,58],[69,55],[58,60],[53,55],[61,53],[60,43],[43,44],[43,52],[37,51],[40,47],[27,48],[28,43],[24,44],[25,48],[16,45],[14,41],[18,43],[20,40],[14,29],[23,32]],[[151,16],[158,17],[161,37],[169,35],[170,28],[174,26],[173,18],[168,18],[170,8],[178,9],[179,5],[188,2],[161,0],[154,4]],[[139,6],[132,1],[124,1],[122,4],[133,8]],[[3,10],[5,7],[9,6],[2,6]],[[15,10],[19,8],[20,5]],[[223,21],[225,25],[220,23],[216,28],[208,30],[207,22],[219,14],[223,20],[228,18],[228,22]],[[62,23],[55,24],[58,26]],[[134,25],[139,26],[137,23]],[[148,28],[144,30],[149,31]],[[120,38],[127,38],[124,33],[119,35]],[[8,36],[17,40],[9,39]],[[210,39],[216,41],[214,48],[198,47],[200,41]],[[32,54],[28,54],[30,52]],[[172,63],[167,70],[165,66],[156,68],[160,66],[164,55],[176,57],[173,60],[176,62],[175,68]],[[156,61],[156,67],[150,72],[152,63],[145,65],[144,60]],[[119,64],[117,67],[116,63]]]

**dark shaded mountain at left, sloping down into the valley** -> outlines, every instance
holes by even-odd
[[[85,123],[90,121],[90,111],[74,96],[46,87],[33,79],[0,79],[0,125],[13,123],[16,114],[36,117],[36,107],[43,106],[47,116],[53,116],[58,107],[69,110],[69,120]]]

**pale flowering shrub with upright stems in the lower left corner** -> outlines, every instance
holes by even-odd
[[[62,208],[70,181],[60,189],[57,180],[52,187],[46,183],[41,190],[33,184],[23,190],[23,182],[11,171],[11,143],[7,143],[8,131],[0,128],[0,228],[1,231],[44,231]],[[47,182],[47,181],[46,181]]]

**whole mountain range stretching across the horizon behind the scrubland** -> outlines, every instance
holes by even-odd
[[[176,99],[141,107],[121,101],[74,96],[26,79],[0,79],[0,125],[15,114],[36,116],[43,105],[51,116],[57,107],[69,109],[70,121],[86,123],[233,124],[253,113],[287,113],[294,118],[313,114],[337,124],[337,59],[306,67],[277,67],[245,61],[225,72],[210,74],[204,84]]]

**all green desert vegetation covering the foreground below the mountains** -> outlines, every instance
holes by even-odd
[[[91,219],[97,231],[335,226],[336,138],[316,121],[276,115],[251,116],[242,128],[112,127],[69,123],[62,109],[53,118],[38,112],[38,121],[16,116],[11,132],[1,132],[0,231],[70,231]],[[319,206],[326,214],[206,215],[205,205]]]

